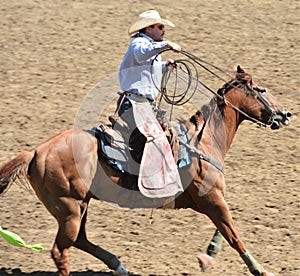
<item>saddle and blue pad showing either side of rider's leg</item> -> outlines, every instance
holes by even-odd
[[[165,117],[159,117],[157,120],[170,143],[178,168],[188,166],[191,163],[191,156],[184,144],[191,142],[192,137],[195,136],[192,134],[193,132],[198,132],[197,136],[201,136],[205,123],[201,111],[197,111],[189,121],[178,119],[172,125]],[[192,131],[190,131],[191,125],[194,126]],[[104,157],[106,162],[114,169],[122,173],[128,173],[124,164],[129,162],[131,158],[140,164],[146,138],[138,129],[133,131],[129,139],[129,145],[126,144],[122,134],[112,128],[112,125],[101,124],[88,130],[88,132],[98,140],[98,156]],[[200,137],[197,138],[200,139]],[[137,145],[140,146],[137,147]]]

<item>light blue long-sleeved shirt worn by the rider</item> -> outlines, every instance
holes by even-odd
[[[156,55],[167,46],[167,42],[155,42],[143,33],[134,36],[119,70],[122,90],[132,91],[155,100],[158,96],[156,87],[160,87],[162,70],[165,66],[161,56]]]

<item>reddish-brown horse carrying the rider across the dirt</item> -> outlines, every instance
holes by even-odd
[[[281,124],[287,125],[290,117],[291,114],[266,89],[238,67],[234,78],[218,90],[201,113],[197,112],[187,122],[192,163],[180,169],[185,191],[176,197],[173,207],[192,208],[207,215],[218,230],[207,254],[199,256],[203,269],[211,263],[223,236],[253,275],[273,275],[252,257],[242,242],[224,200],[225,179],[217,164],[223,166],[226,152],[243,120],[277,129]],[[201,120],[203,128],[200,128]],[[31,151],[21,152],[0,168],[0,193],[13,182],[24,184],[21,180],[25,179],[56,218],[58,232],[51,254],[61,276],[70,273],[71,246],[100,259],[115,275],[128,275],[115,255],[94,245],[86,236],[90,199],[122,205],[132,196],[124,191],[135,187],[132,184],[136,181],[136,176],[123,174],[102,156],[98,157],[97,148],[96,138],[88,132],[67,130]],[[135,199],[142,198],[138,191],[135,193],[138,195]],[[134,207],[139,207],[139,203]]]

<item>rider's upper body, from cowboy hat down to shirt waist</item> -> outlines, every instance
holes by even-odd
[[[119,71],[119,81],[124,91],[147,97],[152,101],[157,98],[156,87],[160,84],[161,70],[172,63],[172,60],[163,63],[161,57],[156,55],[167,48],[181,50],[178,44],[163,41],[165,25],[175,27],[171,21],[161,19],[157,11],[148,10],[141,13],[138,21],[129,28],[128,33],[132,39]],[[155,83],[152,82],[151,65],[156,69],[153,74]]]

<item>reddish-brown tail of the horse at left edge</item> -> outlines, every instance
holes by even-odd
[[[23,151],[0,168],[0,194],[14,182],[29,187],[28,167],[34,155],[35,151]]]

